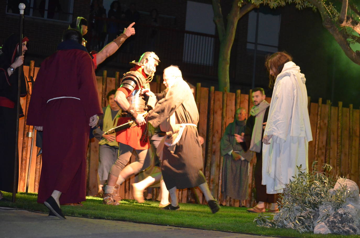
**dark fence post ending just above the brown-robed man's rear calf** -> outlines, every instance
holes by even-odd
[[[206,136],[206,166],[205,166],[205,177],[206,181],[210,186],[210,167],[211,167],[211,156],[212,156],[212,133],[214,124],[214,93],[215,88],[210,87],[209,92],[209,113],[207,118],[207,136]]]

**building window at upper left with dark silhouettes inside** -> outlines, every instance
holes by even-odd
[[[71,22],[73,2],[73,0],[7,0],[6,14],[19,14],[19,3],[24,3],[25,16]]]

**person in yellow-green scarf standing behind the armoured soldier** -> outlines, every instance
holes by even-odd
[[[93,131],[95,138],[99,140],[98,175],[100,184],[98,195],[100,197],[104,194],[104,184],[108,179],[110,168],[115,163],[119,151],[119,145],[116,141],[115,133],[111,135],[103,135],[104,132],[113,128],[119,119],[118,112],[120,107],[114,100],[115,93],[116,90],[111,90],[107,94],[106,98],[109,104],[106,107],[103,107],[104,115],[100,116],[96,129]]]

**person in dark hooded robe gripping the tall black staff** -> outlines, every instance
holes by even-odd
[[[19,67],[24,63],[24,54],[27,50],[27,37],[22,40],[22,55],[19,55],[19,35],[9,36],[0,48],[0,191],[13,191],[15,163],[16,118],[18,103]],[[26,96],[26,81],[24,74],[21,77],[20,96]],[[24,116],[20,107],[20,117]],[[17,186],[16,186],[17,187]],[[0,192],[0,201],[6,200]]]

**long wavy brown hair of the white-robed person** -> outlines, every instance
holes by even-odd
[[[269,88],[274,87],[275,79],[284,68],[284,64],[292,61],[292,57],[285,51],[276,52],[268,55],[265,60],[265,67],[269,73]],[[270,69],[274,72],[275,76],[270,74]]]

